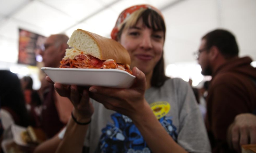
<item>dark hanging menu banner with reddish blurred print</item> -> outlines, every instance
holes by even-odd
[[[19,28],[18,63],[36,66],[36,56],[45,39],[42,35]]]

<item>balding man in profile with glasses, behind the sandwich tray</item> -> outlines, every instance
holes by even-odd
[[[60,61],[65,56],[68,48],[68,36],[65,34],[54,34],[49,36],[41,47],[40,55],[43,58],[44,66],[58,68]],[[60,76],[61,77],[61,76]],[[42,84],[48,83],[45,79]],[[63,128],[70,117],[73,105],[66,97],[61,97],[49,84],[44,89],[43,107],[42,107],[42,129],[51,138]]]

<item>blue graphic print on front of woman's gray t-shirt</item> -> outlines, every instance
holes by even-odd
[[[113,123],[108,123],[102,129],[100,137],[100,149],[104,153],[150,153],[146,141],[143,139],[138,128],[132,123],[132,120],[120,113],[111,115]],[[172,125],[171,117],[162,117],[159,119],[165,130],[176,141],[176,127]]]

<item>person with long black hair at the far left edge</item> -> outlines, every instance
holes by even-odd
[[[0,101],[4,128],[12,123],[23,127],[30,124],[20,79],[8,70],[0,70]]]

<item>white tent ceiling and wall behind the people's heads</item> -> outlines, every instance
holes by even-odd
[[[166,65],[196,63],[192,53],[215,28],[233,32],[240,55],[256,59],[255,0],[0,0],[0,68],[17,63],[19,28],[44,36],[81,28],[109,37],[118,14],[134,4],[163,12]]]

